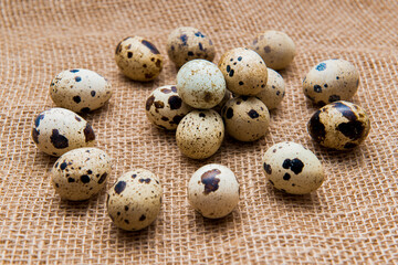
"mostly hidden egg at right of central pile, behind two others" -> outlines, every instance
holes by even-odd
[[[262,100],[268,109],[276,108],[285,94],[285,85],[282,75],[272,68],[268,68],[268,82],[266,86],[255,95]]]

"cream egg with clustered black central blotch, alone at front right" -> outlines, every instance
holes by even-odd
[[[263,171],[274,188],[291,194],[310,193],[324,181],[323,167],[317,157],[292,141],[279,142],[266,150]]]

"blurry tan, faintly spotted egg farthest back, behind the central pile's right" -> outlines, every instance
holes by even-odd
[[[296,54],[293,40],[281,31],[265,31],[258,34],[252,49],[260,54],[266,66],[273,70],[287,67]]]

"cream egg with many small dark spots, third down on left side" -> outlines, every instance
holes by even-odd
[[[83,201],[97,194],[111,174],[111,157],[97,148],[78,148],[65,152],[51,171],[55,192],[71,201]]]

